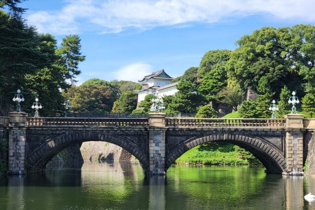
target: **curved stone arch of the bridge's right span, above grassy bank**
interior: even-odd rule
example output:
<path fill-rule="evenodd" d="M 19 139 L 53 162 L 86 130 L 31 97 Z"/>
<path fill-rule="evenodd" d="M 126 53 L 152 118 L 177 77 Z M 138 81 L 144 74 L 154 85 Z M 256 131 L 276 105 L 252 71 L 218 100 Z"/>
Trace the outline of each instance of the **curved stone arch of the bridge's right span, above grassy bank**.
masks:
<path fill-rule="evenodd" d="M 228 142 L 243 147 L 251 152 L 264 165 L 268 173 L 282 174 L 285 172 L 286 165 L 284 154 L 279 148 L 272 145 L 267 140 L 238 134 L 199 136 L 185 140 L 168 152 L 165 170 L 192 147 L 213 141 Z"/>

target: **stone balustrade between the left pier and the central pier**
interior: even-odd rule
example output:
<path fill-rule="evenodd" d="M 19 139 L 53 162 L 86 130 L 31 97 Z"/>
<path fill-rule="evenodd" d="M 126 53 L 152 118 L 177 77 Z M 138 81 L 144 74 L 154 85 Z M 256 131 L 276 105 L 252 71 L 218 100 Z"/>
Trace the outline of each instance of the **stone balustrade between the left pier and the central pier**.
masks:
<path fill-rule="evenodd" d="M 149 118 L 28 117 L 28 126 L 149 126 Z"/>

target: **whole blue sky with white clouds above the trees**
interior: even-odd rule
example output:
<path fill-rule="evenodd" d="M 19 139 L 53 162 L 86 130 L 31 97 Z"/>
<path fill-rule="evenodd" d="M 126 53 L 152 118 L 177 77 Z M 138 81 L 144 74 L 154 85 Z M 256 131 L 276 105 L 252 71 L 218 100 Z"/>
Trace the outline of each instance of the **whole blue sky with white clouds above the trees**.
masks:
<path fill-rule="evenodd" d="M 81 38 L 89 78 L 142 79 L 164 69 L 180 76 L 209 50 L 235 49 L 264 26 L 315 23 L 314 0 L 28 0 L 24 17 L 60 41 Z"/>

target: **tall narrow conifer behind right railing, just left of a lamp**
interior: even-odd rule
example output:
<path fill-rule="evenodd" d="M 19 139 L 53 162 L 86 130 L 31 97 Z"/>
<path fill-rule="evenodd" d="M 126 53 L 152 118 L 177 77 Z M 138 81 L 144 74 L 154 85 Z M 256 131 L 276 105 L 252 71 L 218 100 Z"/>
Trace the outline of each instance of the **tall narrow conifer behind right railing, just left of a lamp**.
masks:
<path fill-rule="evenodd" d="M 263 76 L 260 78 L 257 90 L 260 93 L 257 95 L 256 101 L 259 118 L 270 118 L 271 111 L 269 110 L 269 106 L 275 93 L 271 92 L 267 77 Z"/>

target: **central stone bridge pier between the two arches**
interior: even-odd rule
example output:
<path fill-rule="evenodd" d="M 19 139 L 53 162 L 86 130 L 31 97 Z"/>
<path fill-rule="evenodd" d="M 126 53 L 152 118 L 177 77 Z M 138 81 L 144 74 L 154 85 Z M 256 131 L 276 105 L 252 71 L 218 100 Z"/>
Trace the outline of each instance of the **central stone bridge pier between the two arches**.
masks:
<path fill-rule="evenodd" d="M 166 175 L 165 170 L 165 114 L 150 113 L 148 175 Z"/>

